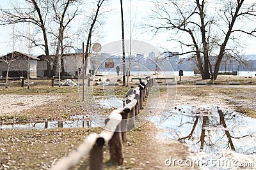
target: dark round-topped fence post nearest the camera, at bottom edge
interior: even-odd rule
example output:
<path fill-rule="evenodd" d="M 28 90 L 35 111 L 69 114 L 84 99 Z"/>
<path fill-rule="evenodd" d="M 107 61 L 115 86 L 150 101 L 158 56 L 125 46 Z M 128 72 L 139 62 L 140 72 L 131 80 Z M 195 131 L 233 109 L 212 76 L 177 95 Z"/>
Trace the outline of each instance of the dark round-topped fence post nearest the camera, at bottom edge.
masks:
<path fill-rule="evenodd" d="M 105 141 L 103 138 L 98 138 L 95 145 L 90 152 L 90 170 L 103 169 L 103 145 Z"/>

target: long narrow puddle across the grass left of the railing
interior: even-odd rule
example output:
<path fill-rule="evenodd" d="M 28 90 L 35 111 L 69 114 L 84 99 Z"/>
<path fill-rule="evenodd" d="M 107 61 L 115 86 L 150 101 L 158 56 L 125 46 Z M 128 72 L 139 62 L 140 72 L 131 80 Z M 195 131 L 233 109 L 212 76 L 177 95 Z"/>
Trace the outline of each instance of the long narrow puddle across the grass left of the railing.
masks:
<path fill-rule="evenodd" d="M 0 125 L 0 129 L 52 129 L 52 128 L 97 127 L 88 120 L 65 120 L 45 122 L 25 122 L 22 124 Z"/>

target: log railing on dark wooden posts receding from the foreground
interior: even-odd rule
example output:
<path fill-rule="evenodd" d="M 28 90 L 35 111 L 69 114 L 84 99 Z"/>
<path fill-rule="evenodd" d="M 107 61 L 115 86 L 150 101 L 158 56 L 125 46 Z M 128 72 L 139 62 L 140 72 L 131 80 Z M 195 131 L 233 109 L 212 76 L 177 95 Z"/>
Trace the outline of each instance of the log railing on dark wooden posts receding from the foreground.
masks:
<path fill-rule="evenodd" d="M 138 85 L 135 93 L 125 101 L 124 108 L 112 111 L 105 121 L 105 127 L 99 134 L 92 133 L 84 139 L 77 150 L 58 160 L 51 170 L 65 170 L 78 164 L 84 156 L 90 154 L 90 170 L 103 169 L 103 146 L 109 145 L 110 159 L 113 164 L 121 165 L 124 161 L 122 141 L 127 141 L 126 132 L 135 126 L 136 115 L 142 108 L 154 80 L 147 78 L 145 85 Z"/>

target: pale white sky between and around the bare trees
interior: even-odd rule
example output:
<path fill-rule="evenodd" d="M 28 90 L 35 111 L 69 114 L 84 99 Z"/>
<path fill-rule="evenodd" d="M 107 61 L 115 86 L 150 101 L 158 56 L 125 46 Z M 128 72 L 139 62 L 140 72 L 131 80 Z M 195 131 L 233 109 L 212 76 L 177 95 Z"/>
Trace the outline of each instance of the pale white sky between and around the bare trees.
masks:
<path fill-rule="evenodd" d="M 17 3 L 17 0 L 1 0 L 1 8 L 10 8 L 8 7 L 8 4 L 10 4 L 10 2 Z M 106 45 L 113 41 L 118 41 L 122 39 L 120 1 L 110 0 L 108 3 L 108 8 L 111 11 L 106 14 L 104 30 L 102 31 L 102 39 L 99 39 L 99 41 L 97 41 L 97 43 L 100 43 L 101 45 Z M 159 50 L 162 50 L 164 48 L 172 52 L 181 51 L 179 45 L 168 41 L 168 32 L 160 33 L 154 36 L 152 33 L 142 29 L 142 23 L 145 22 L 148 13 L 150 13 L 150 11 L 154 8 L 154 5 L 150 1 L 123 0 L 123 3 L 125 19 L 125 39 L 129 39 L 129 16 L 131 12 L 132 18 L 136 18 L 136 20 L 132 20 L 132 25 L 134 25 L 132 39 L 145 41 L 145 43 L 156 46 L 156 48 L 159 48 Z M 130 6 L 132 6 L 131 11 Z M 243 41 L 244 45 L 246 45 L 246 49 L 244 49 L 244 52 L 246 54 L 256 54 L 256 38 L 245 37 Z M 78 45 L 77 48 L 79 47 L 81 48 L 81 46 Z M 28 42 L 15 43 L 14 50 L 28 53 Z M 12 52 L 12 26 L 0 25 L 0 54 L 6 54 L 8 52 Z M 42 50 L 31 49 L 31 53 L 33 53 L 33 55 L 40 55 L 43 52 Z"/>

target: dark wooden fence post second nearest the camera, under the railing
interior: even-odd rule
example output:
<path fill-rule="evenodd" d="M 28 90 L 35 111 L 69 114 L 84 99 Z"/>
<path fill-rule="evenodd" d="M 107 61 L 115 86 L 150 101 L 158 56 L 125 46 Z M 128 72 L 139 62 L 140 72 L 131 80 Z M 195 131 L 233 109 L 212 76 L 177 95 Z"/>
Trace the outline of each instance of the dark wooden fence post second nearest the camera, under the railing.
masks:
<path fill-rule="evenodd" d="M 120 132 L 120 124 L 116 127 L 116 132 L 114 132 L 113 137 L 109 140 L 109 153 L 110 160 L 113 164 L 122 165 L 124 161 L 124 156 L 122 153 L 122 138 Z"/>

